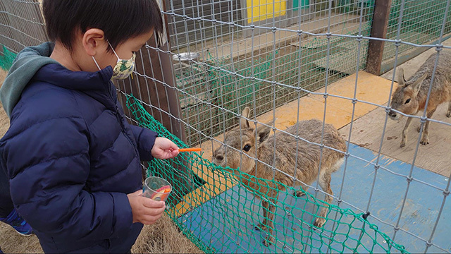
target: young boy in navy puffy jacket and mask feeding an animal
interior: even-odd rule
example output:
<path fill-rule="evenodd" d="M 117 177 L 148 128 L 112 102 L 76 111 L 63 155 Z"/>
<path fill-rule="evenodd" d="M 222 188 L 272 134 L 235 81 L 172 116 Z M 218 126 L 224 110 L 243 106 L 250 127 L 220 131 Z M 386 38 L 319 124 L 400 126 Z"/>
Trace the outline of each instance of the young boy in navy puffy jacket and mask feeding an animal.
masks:
<path fill-rule="evenodd" d="M 44 0 L 43 11 L 54 43 L 20 52 L 0 90 L 1 170 L 46 253 L 130 252 L 165 209 L 142 197 L 140 161 L 178 147 L 129 125 L 110 80 L 131 73 L 161 13 L 154 0 Z"/>

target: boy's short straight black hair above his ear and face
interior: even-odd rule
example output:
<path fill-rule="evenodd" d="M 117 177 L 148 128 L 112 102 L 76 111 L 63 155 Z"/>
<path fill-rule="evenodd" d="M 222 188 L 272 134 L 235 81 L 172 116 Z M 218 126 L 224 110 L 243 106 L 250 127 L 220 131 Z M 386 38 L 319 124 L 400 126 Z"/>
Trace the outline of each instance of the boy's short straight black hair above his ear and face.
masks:
<path fill-rule="evenodd" d="M 72 49 L 78 30 L 103 30 L 113 48 L 152 28 L 163 30 L 155 0 L 44 0 L 42 7 L 49 39 L 67 49 Z"/>

